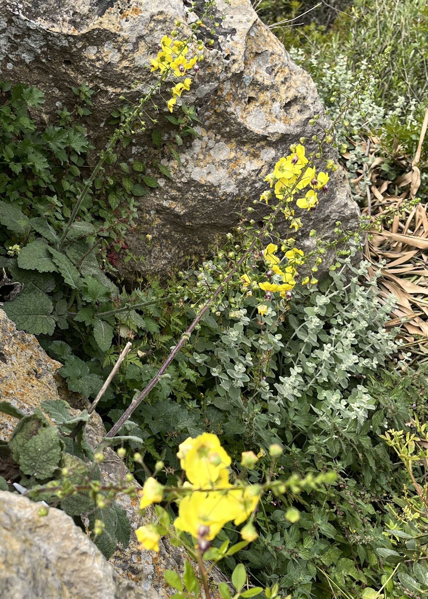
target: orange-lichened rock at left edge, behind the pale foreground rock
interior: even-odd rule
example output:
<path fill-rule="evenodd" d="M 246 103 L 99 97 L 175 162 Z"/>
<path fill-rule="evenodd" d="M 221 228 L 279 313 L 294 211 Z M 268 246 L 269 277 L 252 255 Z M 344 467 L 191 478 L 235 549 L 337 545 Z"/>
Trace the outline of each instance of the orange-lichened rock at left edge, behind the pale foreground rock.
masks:
<path fill-rule="evenodd" d="M 68 401 L 76 414 L 78 410 L 88 408 L 88 401 L 84 400 L 81 395 L 70 392 L 65 388 L 64 379 L 56 373 L 58 368 L 61 368 L 61 364 L 50 359 L 49 356 L 46 355 L 34 335 L 29 335 L 23 331 L 17 331 L 14 323 L 8 319 L 3 310 L 0 310 L 0 401 L 8 401 L 26 414 L 34 412 L 34 409 L 40 407 L 41 402 L 44 400 L 62 399 Z M 7 441 L 10 438 L 16 423 L 17 420 L 15 418 L 0 412 L 0 440 Z M 103 421 L 97 413 L 92 414 L 86 432 L 92 447 L 95 447 L 101 441 L 101 438 L 106 435 Z M 125 474 L 128 474 L 128 469 L 125 467 L 122 460 L 118 458 L 117 453 L 112 449 L 107 447 L 107 449 L 104 450 L 104 456 L 106 459 L 103 464 L 101 464 L 101 476 L 104 483 L 115 482 L 119 478 L 125 476 Z M 0 467 L 0 476 L 5 476 L 7 478 L 7 464 L 5 465 L 5 468 L 6 470 L 2 471 L 2 468 Z M 137 483 L 135 482 L 135 484 Z M 26 503 L 23 505 L 26 506 L 28 500 L 25 500 L 25 502 Z M 2 501 L 0 500 L 0 506 L 1 503 Z M 140 516 L 137 512 L 137 501 L 130 498 L 128 495 L 120 495 L 117 497 L 117 503 L 126 510 L 129 521 L 131 522 L 132 532 L 129 546 L 126 548 L 119 546 L 110 558 L 111 564 L 113 564 L 114 568 L 123 579 L 135 582 L 135 584 L 140 586 L 144 591 L 156 592 L 161 595 L 161 597 L 169 597 L 170 588 L 168 588 L 168 585 L 165 583 L 162 573 L 167 568 L 183 573 L 184 561 L 187 556 L 185 550 L 183 550 L 182 547 L 171 546 L 168 543 L 168 540 L 165 539 L 161 540 L 159 543 L 158 553 L 139 549 L 133 531 L 153 519 L 153 513 L 150 512 L 150 510 L 147 510 L 146 516 Z M 55 510 L 55 513 L 57 513 L 57 510 Z M 0 521 L 1 518 L 2 516 L 0 515 Z M 55 518 L 59 518 L 59 516 L 55 516 Z M 67 519 L 68 516 L 64 514 L 64 518 Z M 64 522 L 68 522 L 68 520 L 64 520 Z M 55 528 L 53 530 L 55 530 Z M 78 537 L 76 537 L 76 539 L 77 538 Z M 4 559 L 2 555 L 2 551 L 4 552 L 4 549 L 2 549 L 2 542 L 3 537 L 0 523 L 0 591 L 3 590 L 1 586 L 2 559 Z M 16 541 L 16 547 L 19 547 L 19 542 L 20 541 Z M 61 543 L 61 537 L 55 539 L 55 543 L 57 542 Z M 92 545 L 92 542 L 89 541 L 89 539 L 88 543 Z M 94 549 L 92 549 L 92 551 L 97 552 L 98 550 L 95 546 L 93 547 Z M 69 558 L 71 556 L 71 550 L 72 548 L 70 547 L 70 552 L 68 552 Z M 12 559 L 10 553 L 7 553 L 6 555 L 9 560 Z M 98 555 L 98 553 L 93 553 L 93 555 Z M 19 557 L 17 557 L 17 559 L 19 559 Z M 73 559 L 71 559 L 71 561 L 73 561 Z M 35 571 L 37 571 L 37 568 L 38 567 L 35 566 Z M 224 580 L 219 571 L 213 571 L 213 579 L 218 581 Z M 41 586 L 41 588 L 43 588 L 43 586 Z M 0 596 L 3 597 L 1 592 Z M 64 597 L 66 596 L 67 595 L 64 595 Z M 140 595 L 133 595 L 132 593 L 126 595 L 126 592 L 124 592 L 123 595 L 117 594 L 117 597 L 119 596 L 131 598 L 140 597 Z M 141 595 L 141 597 L 144 596 L 146 595 Z M 55 599 L 57 599 L 55 594 L 5 594 L 4 597 L 46 597 L 46 599 L 48 599 L 48 597 L 55 597 Z M 58 597 L 63 597 L 63 595 L 58 595 Z M 104 597 L 104 595 L 100 592 L 100 594 L 93 595 L 70 595 L 70 598 L 71 597 L 83 599 L 85 597 Z M 105 597 L 116 597 L 116 595 L 106 594 Z"/>

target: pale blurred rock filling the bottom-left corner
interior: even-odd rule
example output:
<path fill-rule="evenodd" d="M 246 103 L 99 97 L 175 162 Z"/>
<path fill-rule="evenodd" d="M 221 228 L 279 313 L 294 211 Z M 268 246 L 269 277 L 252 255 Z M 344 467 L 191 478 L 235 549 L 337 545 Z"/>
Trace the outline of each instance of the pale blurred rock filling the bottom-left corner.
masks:
<path fill-rule="evenodd" d="M 0 594 L 7 599 L 156 599 L 124 580 L 65 512 L 0 491 Z"/>

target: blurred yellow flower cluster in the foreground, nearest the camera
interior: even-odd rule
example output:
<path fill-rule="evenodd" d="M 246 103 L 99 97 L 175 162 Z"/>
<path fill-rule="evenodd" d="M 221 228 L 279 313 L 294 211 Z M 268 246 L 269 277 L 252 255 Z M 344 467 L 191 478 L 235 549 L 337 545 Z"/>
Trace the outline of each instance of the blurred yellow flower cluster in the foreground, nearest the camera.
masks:
<path fill-rule="evenodd" d="M 177 457 L 187 480 L 183 483 L 183 493 L 175 498 L 178 517 L 174 527 L 177 534 L 190 534 L 204 552 L 227 522 L 239 525 L 251 516 L 260 500 L 260 486 L 231 485 L 230 456 L 218 437 L 208 432 L 183 441 Z M 162 485 L 150 477 L 141 492 L 140 508 L 159 503 L 163 493 Z M 241 532 L 243 539 L 248 541 L 257 537 L 251 523 Z M 161 534 L 156 531 L 156 525 L 140 527 L 135 534 L 144 549 L 158 550 Z"/>

